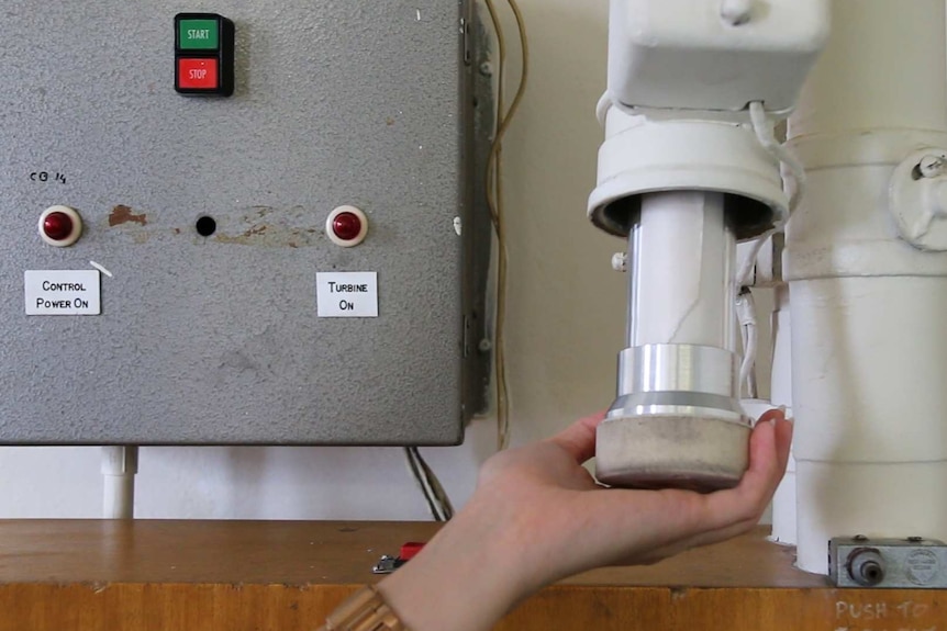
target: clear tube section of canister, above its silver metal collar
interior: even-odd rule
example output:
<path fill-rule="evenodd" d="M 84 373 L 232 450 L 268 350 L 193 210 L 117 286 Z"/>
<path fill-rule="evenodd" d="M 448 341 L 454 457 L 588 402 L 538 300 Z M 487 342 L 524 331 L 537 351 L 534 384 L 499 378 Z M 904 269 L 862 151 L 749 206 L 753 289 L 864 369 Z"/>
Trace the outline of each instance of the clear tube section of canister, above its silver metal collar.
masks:
<path fill-rule="evenodd" d="M 628 347 L 734 351 L 735 267 L 723 193 L 645 195 L 628 237 Z"/>

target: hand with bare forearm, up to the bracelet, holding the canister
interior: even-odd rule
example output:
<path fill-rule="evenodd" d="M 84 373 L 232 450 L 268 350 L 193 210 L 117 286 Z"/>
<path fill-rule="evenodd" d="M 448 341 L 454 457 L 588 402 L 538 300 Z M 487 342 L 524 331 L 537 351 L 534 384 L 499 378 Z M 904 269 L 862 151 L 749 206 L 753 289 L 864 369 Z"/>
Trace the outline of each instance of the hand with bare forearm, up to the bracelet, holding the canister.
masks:
<path fill-rule="evenodd" d="M 735 488 L 603 488 L 582 464 L 602 417 L 482 467 L 464 510 L 424 551 L 379 585 L 414 631 L 482 631 L 521 599 L 558 579 L 615 564 L 654 563 L 753 528 L 786 471 L 792 425 L 762 416 L 750 464 Z"/>

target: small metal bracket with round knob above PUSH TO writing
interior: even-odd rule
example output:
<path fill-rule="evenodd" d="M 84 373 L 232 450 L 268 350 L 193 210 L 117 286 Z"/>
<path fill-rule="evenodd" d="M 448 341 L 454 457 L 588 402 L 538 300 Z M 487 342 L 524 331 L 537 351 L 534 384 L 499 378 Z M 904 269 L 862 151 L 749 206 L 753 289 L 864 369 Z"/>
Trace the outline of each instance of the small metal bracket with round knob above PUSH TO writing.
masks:
<path fill-rule="evenodd" d="M 947 544 L 936 539 L 869 539 L 828 542 L 828 576 L 838 587 L 947 588 Z"/>

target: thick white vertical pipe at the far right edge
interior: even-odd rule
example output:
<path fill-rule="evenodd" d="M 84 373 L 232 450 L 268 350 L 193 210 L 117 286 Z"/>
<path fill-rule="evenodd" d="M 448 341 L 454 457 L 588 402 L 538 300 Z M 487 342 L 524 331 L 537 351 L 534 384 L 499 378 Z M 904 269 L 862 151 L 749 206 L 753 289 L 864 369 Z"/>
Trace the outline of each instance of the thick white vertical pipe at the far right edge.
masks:
<path fill-rule="evenodd" d="M 947 146 L 944 0 L 835 0 L 789 137 L 787 228 L 800 567 L 834 537 L 947 539 L 947 255 L 899 238 L 895 167 Z"/>

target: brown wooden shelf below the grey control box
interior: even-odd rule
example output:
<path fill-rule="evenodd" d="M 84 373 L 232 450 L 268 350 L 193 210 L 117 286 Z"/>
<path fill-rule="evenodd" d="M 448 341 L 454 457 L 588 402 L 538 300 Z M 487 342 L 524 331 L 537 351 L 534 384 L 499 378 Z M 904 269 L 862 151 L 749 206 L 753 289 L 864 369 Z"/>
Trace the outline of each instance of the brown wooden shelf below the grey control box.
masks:
<path fill-rule="evenodd" d="M 312 631 L 437 526 L 0 521 L 0 631 Z M 458 551 L 463 553 L 463 551 Z M 947 593 L 832 587 L 765 531 L 550 587 L 498 629 L 947 631 Z M 449 631 L 449 630 L 445 630 Z"/>

